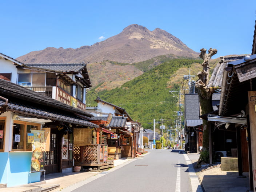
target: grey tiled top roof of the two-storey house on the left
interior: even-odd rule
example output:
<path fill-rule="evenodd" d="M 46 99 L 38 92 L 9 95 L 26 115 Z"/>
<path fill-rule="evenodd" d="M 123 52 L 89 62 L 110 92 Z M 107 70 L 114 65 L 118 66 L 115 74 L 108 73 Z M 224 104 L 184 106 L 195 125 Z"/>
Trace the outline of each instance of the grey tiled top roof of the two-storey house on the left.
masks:
<path fill-rule="evenodd" d="M 41 68 L 56 72 L 79 72 L 86 67 L 85 63 L 46 63 L 46 64 L 25 64 L 25 67 Z"/>

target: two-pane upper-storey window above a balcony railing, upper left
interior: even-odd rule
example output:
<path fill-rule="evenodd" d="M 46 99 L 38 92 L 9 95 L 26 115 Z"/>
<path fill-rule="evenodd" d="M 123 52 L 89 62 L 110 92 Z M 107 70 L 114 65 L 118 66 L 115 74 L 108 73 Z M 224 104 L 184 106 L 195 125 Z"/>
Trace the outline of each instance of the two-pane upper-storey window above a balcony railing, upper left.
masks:
<path fill-rule="evenodd" d="M 45 73 L 20 73 L 18 84 L 24 87 L 45 87 Z"/>

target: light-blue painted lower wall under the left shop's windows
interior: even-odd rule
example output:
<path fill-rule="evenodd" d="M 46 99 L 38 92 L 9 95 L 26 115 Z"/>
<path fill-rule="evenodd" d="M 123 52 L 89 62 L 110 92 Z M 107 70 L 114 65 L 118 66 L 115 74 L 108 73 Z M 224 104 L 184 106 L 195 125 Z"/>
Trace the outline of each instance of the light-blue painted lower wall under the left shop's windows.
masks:
<path fill-rule="evenodd" d="M 40 181 L 40 172 L 29 173 L 32 152 L 0 153 L 0 183 L 7 187 Z"/>

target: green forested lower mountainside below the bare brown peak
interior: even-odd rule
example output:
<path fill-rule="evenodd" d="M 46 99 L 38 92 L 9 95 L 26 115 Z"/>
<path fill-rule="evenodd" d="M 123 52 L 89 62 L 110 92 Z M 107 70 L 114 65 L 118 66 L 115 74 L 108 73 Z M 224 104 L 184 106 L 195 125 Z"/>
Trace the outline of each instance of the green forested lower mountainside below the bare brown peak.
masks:
<path fill-rule="evenodd" d="M 87 107 L 96 106 L 97 96 L 102 100 L 124 108 L 135 121 L 148 127 L 155 118 L 173 122 L 179 110 L 177 98 L 169 90 L 179 90 L 183 75 L 201 70 L 201 59 L 171 59 L 130 80 L 121 87 L 96 92 L 88 90 Z"/>

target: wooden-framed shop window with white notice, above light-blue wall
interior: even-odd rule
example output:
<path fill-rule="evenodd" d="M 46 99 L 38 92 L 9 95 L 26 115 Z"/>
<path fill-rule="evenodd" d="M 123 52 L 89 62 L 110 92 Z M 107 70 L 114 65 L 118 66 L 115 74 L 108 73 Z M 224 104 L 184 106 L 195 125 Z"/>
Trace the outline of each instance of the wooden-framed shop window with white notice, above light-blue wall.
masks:
<path fill-rule="evenodd" d="M 31 143 L 28 143 L 28 133 L 31 130 L 40 130 L 40 124 L 33 124 L 24 121 L 13 121 L 12 150 L 32 151 Z"/>

